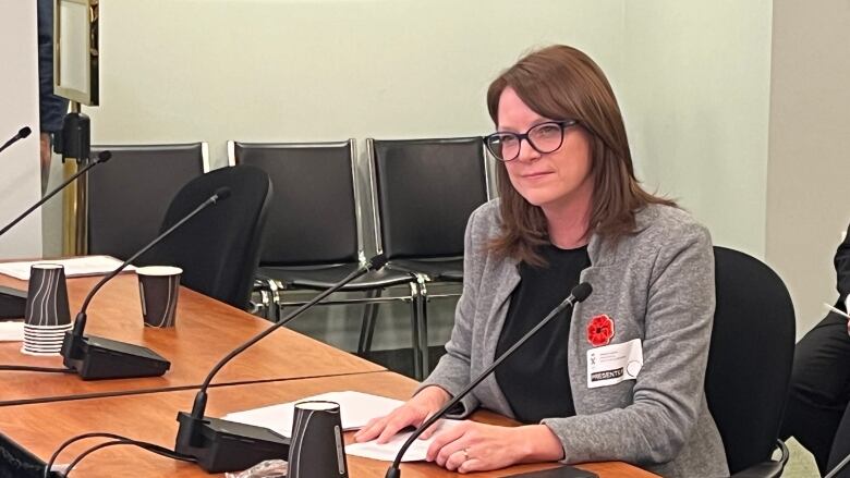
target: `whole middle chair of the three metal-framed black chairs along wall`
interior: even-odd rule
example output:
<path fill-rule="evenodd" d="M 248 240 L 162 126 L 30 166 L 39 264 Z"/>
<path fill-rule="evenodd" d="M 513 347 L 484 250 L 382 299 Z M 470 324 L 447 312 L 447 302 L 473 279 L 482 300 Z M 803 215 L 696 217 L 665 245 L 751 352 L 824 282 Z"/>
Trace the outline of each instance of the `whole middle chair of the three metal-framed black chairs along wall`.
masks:
<path fill-rule="evenodd" d="M 281 293 L 294 290 L 321 291 L 356 270 L 365 260 L 360 234 L 359 201 L 355 199 L 354 140 L 336 143 L 228 143 L 232 162 L 252 164 L 271 176 L 275 198 L 257 277 L 262 292 L 270 295 L 275 316 L 284 306 Z M 382 297 L 381 292 L 398 285 L 411 293 Z M 384 268 L 368 272 L 343 286 L 341 292 L 363 292 L 364 298 L 323 304 L 366 304 L 363 324 L 374 322 L 377 305 L 406 301 L 412 304 L 412 322 L 418 321 L 415 278 Z M 268 317 L 268 316 L 267 316 Z M 415 329 L 415 327 L 414 327 Z M 357 352 L 366 354 L 362 327 Z"/>

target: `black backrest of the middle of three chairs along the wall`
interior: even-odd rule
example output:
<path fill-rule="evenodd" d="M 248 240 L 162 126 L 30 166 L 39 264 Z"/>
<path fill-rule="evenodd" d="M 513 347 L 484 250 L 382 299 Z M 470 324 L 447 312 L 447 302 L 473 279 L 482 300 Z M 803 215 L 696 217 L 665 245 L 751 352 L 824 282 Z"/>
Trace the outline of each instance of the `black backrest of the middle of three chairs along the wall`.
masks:
<path fill-rule="evenodd" d="M 354 140 L 228 144 L 230 156 L 271 176 L 262 266 L 356 262 L 360 237 Z"/>

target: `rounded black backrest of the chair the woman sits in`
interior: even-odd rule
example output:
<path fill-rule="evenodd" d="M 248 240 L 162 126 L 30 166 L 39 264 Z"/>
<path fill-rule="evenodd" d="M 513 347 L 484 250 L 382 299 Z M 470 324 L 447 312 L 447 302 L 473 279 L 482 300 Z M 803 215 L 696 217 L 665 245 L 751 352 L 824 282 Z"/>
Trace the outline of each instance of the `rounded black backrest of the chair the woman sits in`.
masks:
<path fill-rule="evenodd" d="M 705 377 L 708 408 L 734 474 L 770 459 L 794 350 L 794 310 L 782 280 L 758 259 L 714 248 L 717 308 Z"/>

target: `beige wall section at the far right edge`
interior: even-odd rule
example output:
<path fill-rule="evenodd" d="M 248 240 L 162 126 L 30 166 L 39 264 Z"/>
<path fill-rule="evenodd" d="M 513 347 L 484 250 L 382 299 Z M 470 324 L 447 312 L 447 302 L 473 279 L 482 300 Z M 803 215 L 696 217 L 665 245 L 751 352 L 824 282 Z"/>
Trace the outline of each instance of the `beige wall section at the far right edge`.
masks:
<path fill-rule="evenodd" d="M 767 261 L 789 286 L 798 336 L 834 303 L 850 222 L 850 2 L 775 0 Z"/>

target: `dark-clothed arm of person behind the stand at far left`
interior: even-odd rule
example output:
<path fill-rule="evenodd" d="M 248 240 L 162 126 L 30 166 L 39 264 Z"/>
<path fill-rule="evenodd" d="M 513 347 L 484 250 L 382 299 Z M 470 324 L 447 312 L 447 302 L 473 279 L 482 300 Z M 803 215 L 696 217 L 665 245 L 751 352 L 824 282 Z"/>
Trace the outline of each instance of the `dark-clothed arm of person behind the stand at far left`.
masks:
<path fill-rule="evenodd" d="M 53 95 L 53 1 L 38 0 L 38 109 L 41 143 L 41 191 L 50 175 L 51 135 L 62 132 L 68 99 Z"/>

